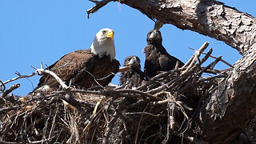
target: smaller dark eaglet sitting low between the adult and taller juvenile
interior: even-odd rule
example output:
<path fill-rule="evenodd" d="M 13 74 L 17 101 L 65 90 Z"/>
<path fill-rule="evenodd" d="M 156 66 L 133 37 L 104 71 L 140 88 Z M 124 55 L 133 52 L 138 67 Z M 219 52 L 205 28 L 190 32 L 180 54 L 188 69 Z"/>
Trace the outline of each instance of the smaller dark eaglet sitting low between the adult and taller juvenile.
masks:
<path fill-rule="evenodd" d="M 123 71 L 119 79 L 120 86 L 125 89 L 133 89 L 141 86 L 145 82 L 145 75 L 141 70 L 141 60 L 133 55 L 125 59 L 123 66 L 129 66 L 130 69 Z"/>

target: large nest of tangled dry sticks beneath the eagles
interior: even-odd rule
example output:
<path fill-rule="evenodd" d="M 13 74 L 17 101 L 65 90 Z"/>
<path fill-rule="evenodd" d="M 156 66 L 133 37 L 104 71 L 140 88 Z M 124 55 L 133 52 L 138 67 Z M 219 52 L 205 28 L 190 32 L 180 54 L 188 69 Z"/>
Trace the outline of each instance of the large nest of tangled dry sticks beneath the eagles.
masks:
<path fill-rule="evenodd" d="M 199 58 L 207 46 L 182 68 L 158 74 L 136 90 L 69 88 L 18 98 L 2 88 L 0 142 L 199 142 L 200 131 L 190 130 L 193 118 L 228 73 L 214 70 L 221 57 L 202 66 L 212 52 Z"/>

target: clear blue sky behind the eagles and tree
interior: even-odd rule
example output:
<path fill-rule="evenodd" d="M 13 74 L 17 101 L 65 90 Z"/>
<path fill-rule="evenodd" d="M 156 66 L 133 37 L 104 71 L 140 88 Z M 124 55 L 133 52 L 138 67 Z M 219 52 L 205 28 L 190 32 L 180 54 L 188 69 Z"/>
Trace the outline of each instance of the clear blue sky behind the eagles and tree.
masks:
<path fill-rule="evenodd" d="M 255 0 L 222 0 L 228 6 L 256 16 Z M 138 55 L 144 66 L 142 49 L 146 46 L 146 34 L 153 29 L 154 22 L 138 10 L 118 2 L 110 2 L 101 10 L 90 14 L 86 10 L 94 6 L 87 0 L 1 0 L 0 1 L 0 80 L 3 82 L 16 77 L 14 72 L 31 74 L 30 66 L 39 67 L 40 62 L 50 66 L 64 54 L 78 49 L 90 48 L 98 30 L 110 27 L 114 30 L 116 59 L 122 64 L 129 55 Z M 210 42 L 214 56 L 223 56 L 234 64 L 241 57 L 238 52 L 224 42 L 197 34 L 190 30 L 179 30 L 165 25 L 161 29 L 163 46 L 175 57 L 186 62 L 204 42 Z M 210 59 L 211 62 L 213 59 Z M 217 68 L 227 66 L 219 63 Z M 26 95 L 37 86 L 39 76 L 23 78 L 15 83 L 21 86 L 13 94 Z M 114 78 L 118 84 L 118 77 Z"/>

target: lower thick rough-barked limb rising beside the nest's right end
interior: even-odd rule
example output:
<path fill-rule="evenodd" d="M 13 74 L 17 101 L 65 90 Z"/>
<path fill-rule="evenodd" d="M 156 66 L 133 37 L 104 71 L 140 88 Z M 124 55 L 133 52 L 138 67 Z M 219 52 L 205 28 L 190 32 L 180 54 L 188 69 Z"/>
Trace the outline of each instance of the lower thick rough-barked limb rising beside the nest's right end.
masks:
<path fill-rule="evenodd" d="M 230 142 L 256 114 L 256 55 L 251 57 L 251 65 L 238 63 L 202 106 L 197 120 L 206 142 Z"/>

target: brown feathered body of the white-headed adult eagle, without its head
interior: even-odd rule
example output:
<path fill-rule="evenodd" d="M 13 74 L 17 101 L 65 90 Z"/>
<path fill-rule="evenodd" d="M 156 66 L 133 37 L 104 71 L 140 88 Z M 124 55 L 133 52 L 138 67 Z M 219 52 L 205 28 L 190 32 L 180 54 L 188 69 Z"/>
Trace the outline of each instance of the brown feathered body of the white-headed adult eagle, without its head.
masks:
<path fill-rule="evenodd" d="M 66 82 L 66 85 L 90 88 L 109 84 L 118 72 L 119 65 L 116 59 L 111 61 L 110 56 L 99 58 L 91 50 L 76 50 L 64 55 L 49 68 Z M 38 87 L 43 85 L 56 89 L 59 83 L 50 74 L 45 74 L 40 78 Z"/>

